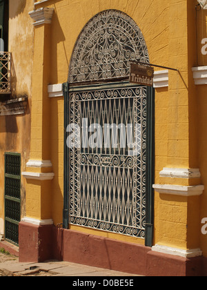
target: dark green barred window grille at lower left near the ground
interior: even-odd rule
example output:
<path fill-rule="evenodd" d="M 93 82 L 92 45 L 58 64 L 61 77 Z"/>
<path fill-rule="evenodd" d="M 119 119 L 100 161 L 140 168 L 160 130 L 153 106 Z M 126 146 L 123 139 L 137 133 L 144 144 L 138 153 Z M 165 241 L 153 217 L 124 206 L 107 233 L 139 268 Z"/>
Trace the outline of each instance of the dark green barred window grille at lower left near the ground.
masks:
<path fill-rule="evenodd" d="M 21 155 L 5 153 L 5 238 L 19 245 L 21 221 Z"/>

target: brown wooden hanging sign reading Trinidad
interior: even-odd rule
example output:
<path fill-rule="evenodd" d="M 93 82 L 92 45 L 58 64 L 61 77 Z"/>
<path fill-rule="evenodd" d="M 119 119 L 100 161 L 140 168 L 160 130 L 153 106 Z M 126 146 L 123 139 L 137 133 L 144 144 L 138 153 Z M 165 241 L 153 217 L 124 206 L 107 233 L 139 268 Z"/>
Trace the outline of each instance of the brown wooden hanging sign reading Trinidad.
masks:
<path fill-rule="evenodd" d="M 153 86 L 154 69 L 151 66 L 130 64 L 130 83 L 142 86 Z"/>

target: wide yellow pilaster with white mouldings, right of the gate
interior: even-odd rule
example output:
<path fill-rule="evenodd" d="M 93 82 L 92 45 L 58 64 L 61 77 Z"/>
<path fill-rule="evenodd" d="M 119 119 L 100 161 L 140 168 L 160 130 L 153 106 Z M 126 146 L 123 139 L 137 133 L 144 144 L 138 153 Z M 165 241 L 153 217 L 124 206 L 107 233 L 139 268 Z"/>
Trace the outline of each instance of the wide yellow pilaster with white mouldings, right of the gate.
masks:
<path fill-rule="evenodd" d="M 188 50 L 189 5 L 193 11 L 190 1 L 169 3 L 169 67 L 179 72 L 169 71 L 167 106 L 162 111 L 156 110 L 155 117 L 155 164 L 158 165 L 153 186 L 156 228 L 153 249 L 181 256 L 201 254 L 199 204 L 204 192 L 197 168 L 196 94 Z"/>

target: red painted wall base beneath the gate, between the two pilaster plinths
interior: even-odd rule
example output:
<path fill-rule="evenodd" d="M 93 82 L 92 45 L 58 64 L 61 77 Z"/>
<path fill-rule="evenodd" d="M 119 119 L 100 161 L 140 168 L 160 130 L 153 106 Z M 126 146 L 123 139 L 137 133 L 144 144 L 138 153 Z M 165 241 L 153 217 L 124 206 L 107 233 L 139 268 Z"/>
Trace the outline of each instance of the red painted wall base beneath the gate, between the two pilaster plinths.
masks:
<path fill-rule="evenodd" d="M 145 275 L 146 255 L 149 252 L 150 248 L 137 244 L 119 242 L 77 231 L 64 231 L 63 258 L 70 262 Z"/>

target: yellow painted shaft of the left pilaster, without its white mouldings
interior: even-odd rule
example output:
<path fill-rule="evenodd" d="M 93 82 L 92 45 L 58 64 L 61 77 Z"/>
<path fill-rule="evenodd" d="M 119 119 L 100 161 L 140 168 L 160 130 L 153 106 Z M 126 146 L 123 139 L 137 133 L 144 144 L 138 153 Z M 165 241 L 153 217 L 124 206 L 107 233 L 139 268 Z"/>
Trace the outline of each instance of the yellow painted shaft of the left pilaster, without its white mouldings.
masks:
<path fill-rule="evenodd" d="M 32 25 L 32 19 L 30 19 Z M 39 26 L 34 31 L 34 63 L 32 69 L 32 122 L 30 160 L 50 160 L 50 25 Z M 43 172 L 47 168 L 32 168 Z M 38 220 L 51 217 L 51 183 L 27 180 L 26 216 Z"/>

